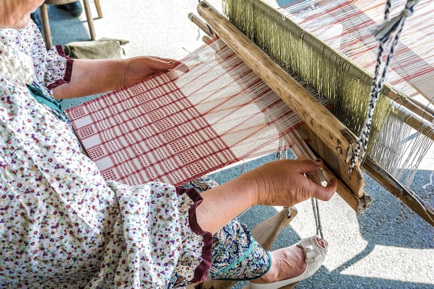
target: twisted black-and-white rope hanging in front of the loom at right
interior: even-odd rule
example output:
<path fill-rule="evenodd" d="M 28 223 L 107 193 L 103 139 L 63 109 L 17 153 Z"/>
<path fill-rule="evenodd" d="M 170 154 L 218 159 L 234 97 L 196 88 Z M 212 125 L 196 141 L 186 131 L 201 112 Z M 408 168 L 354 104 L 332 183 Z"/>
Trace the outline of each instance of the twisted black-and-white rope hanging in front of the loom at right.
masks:
<path fill-rule="evenodd" d="M 419 0 L 408 0 L 406 3 L 406 7 L 402 10 L 402 12 L 399 15 L 392 17 L 392 19 L 389 19 L 391 0 L 388 0 L 386 3 L 385 21 L 379 27 L 379 29 L 376 30 L 376 33 L 374 34 L 376 39 L 379 41 L 379 52 L 377 54 L 377 59 L 376 59 L 376 67 L 374 72 L 374 80 L 372 82 L 369 109 L 367 112 L 365 123 L 361 130 L 361 134 L 359 136 L 359 141 L 356 145 L 356 150 L 354 151 L 353 157 L 351 159 L 351 164 L 349 167 L 349 175 L 352 174 L 354 166 L 356 165 L 356 161 L 358 159 L 363 159 L 365 155 L 365 151 L 367 149 L 367 141 L 369 139 L 370 128 L 372 123 L 372 115 L 374 114 L 375 105 L 379 98 L 380 91 L 383 88 L 386 72 L 388 71 L 390 61 L 392 60 L 395 47 L 397 46 L 399 35 L 401 34 L 403 25 L 406 19 L 411 15 L 413 15 L 413 7 L 418 2 Z M 387 46 L 387 44 L 391 41 L 392 44 L 390 45 L 390 51 L 385 61 L 383 71 L 381 71 L 382 59 L 383 59 L 383 55 L 385 55 L 385 46 Z M 362 148 L 363 148 L 363 152 L 361 153 Z"/>

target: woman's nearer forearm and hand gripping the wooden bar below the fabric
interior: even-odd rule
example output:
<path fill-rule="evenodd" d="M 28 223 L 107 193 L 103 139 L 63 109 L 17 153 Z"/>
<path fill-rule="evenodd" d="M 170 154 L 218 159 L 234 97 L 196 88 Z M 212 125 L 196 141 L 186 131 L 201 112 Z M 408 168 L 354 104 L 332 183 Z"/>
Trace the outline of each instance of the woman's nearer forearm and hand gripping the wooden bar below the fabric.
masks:
<path fill-rule="evenodd" d="M 271 161 L 225 184 L 200 193 L 196 220 L 203 231 L 216 233 L 232 218 L 254 205 L 293 206 L 309 198 L 330 200 L 338 183 L 315 184 L 304 173 L 319 170 L 322 161 L 284 159 Z"/>

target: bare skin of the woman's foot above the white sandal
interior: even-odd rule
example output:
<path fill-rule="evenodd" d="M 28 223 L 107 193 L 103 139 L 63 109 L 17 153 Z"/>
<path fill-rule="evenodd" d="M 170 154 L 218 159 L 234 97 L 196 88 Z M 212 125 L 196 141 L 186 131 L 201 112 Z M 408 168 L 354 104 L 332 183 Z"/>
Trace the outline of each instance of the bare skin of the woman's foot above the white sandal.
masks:
<path fill-rule="evenodd" d="M 318 238 L 318 244 L 326 247 L 326 243 Z M 277 249 L 270 252 L 271 268 L 258 279 L 251 280 L 252 283 L 272 283 L 281 280 L 297 277 L 306 269 L 306 258 L 302 248 L 297 245 Z"/>

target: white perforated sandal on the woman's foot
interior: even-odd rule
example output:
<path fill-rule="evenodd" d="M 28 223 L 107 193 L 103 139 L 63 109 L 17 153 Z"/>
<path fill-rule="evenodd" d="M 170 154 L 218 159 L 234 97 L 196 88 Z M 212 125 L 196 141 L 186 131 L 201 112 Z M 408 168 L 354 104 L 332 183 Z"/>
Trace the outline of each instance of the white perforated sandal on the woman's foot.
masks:
<path fill-rule="evenodd" d="M 327 254 L 327 241 L 322 239 L 326 244 L 326 247 L 324 248 L 320 244 L 318 244 L 317 238 L 317 236 L 304 238 L 295 244 L 298 247 L 302 248 L 304 256 L 306 257 L 306 269 L 304 269 L 304 272 L 302 274 L 298 275 L 297 277 L 273 283 L 259 284 L 250 282 L 250 289 L 278 289 L 311 277 L 313 273 L 317 272 L 318 269 L 320 269 L 321 264 Z"/>

